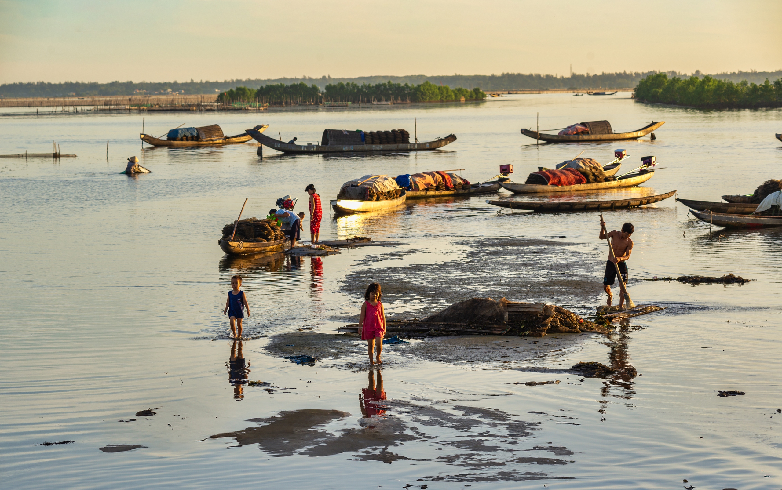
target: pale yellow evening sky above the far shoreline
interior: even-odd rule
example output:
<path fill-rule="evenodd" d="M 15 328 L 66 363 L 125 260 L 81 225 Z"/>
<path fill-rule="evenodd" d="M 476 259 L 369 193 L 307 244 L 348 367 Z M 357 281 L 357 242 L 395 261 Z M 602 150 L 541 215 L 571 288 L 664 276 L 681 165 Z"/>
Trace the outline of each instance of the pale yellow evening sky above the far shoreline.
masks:
<path fill-rule="evenodd" d="M 780 0 L 0 0 L 0 83 L 769 71 L 780 25 Z"/>

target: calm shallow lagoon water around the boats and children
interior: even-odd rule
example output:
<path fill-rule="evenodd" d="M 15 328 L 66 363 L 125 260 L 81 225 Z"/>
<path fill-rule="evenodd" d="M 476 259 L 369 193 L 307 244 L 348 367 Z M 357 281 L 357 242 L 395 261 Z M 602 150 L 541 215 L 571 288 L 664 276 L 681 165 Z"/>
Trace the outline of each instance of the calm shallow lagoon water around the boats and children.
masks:
<path fill-rule="evenodd" d="M 518 133 L 534 127 L 536 113 L 541 129 L 598 119 L 616 131 L 666 123 L 656 141 L 536 146 Z M 607 162 L 614 148 L 626 148 L 630 163 L 655 155 L 667 168 L 641 188 L 582 199 L 676 189 L 683 198 L 718 201 L 780 177 L 782 147 L 773 133 L 782 111 L 671 109 L 626 95 L 518 95 L 350 112 L 156 114 L 144 125 L 163 134 L 181 123 L 220 123 L 236 134 L 268 123 L 267 132 L 285 141 L 314 142 L 325 127 L 412 132 L 414 117 L 421 141 L 450 133 L 458 140 L 437 152 L 283 156 L 266 149 L 260 159 L 249 144 L 142 150 L 136 114 L 0 113 L 0 154 L 46 152 L 56 140 L 63 153 L 78 155 L 59 163 L 0 159 L 4 484 L 472 490 L 679 488 L 687 479 L 698 488 L 780 488 L 779 231 L 710 234 L 672 199 L 604 213 L 610 227 L 636 227 L 633 299 L 668 306 L 665 312 L 633 319 L 608 338 L 386 346 L 387 411 L 370 418 L 359 402 L 371 388 L 364 347 L 332 335 L 355 319 L 369 281 L 382 282 L 387 312 L 400 317 L 474 296 L 588 313 L 604 302 L 597 214 L 497 216 L 481 196 L 326 216 L 321 238 L 359 234 L 397 245 L 321 259 L 228 259 L 217 238 L 245 198 L 244 216 L 265 215 L 286 194 L 305 209 L 310 182 L 328 201 L 344 181 L 366 173 L 465 169 L 480 181 L 512 163 L 523 181 L 537 166 L 584 149 L 583 156 Z M 119 175 L 133 155 L 153 173 Z M 726 273 L 757 281 L 640 281 Z M 229 382 L 232 342 L 221 309 L 233 274 L 245 277 L 253 313 L 245 324 L 253 339 L 243 342 L 248 377 L 267 381 L 264 387 Z M 323 360 L 301 367 L 283 359 L 290 354 Z M 563 370 L 578 361 L 631 363 L 643 376 L 581 382 Z M 550 379 L 561 383 L 512 384 Z M 718 390 L 746 395 L 721 399 Z M 156 415 L 135 416 L 148 408 Z M 138 420 L 117 422 L 129 418 Z M 74 442 L 39 445 L 66 440 Z M 108 445 L 145 447 L 99 449 Z"/>

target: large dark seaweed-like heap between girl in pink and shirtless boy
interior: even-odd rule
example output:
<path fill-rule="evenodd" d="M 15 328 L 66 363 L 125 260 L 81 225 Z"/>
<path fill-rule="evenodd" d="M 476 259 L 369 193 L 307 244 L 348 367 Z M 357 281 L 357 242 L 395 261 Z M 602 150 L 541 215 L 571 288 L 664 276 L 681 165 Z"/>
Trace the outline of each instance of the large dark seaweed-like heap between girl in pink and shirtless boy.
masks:
<path fill-rule="evenodd" d="M 495 301 L 491 298 L 473 298 L 457 302 L 443 311 L 425 317 L 414 323 L 424 325 L 442 325 L 447 332 L 450 329 L 474 328 L 484 330 L 489 327 L 507 327 L 505 335 L 526 335 L 543 337 L 545 334 L 577 334 L 581 332 L 608 333 L 610 330 L 590 320 L 585 320 L 561 306 L 545 305 L 542 311 L 518 311 L 526 303 L 509 302 L 507 299 Z M 457 328 L 458 327 L 458 328 Z M 409 327 L 408 327 L 409 328 Z"/>

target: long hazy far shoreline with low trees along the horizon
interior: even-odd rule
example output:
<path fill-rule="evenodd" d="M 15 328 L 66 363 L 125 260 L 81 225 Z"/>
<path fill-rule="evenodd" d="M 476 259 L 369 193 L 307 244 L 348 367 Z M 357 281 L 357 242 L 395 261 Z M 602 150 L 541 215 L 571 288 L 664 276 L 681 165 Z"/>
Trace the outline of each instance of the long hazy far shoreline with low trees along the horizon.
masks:
<path fill-rule="evenodd" d="M 499 75 L 407 75 L 404 77 L 395 76 L 372 76 L 372 77 L 353 77 L 353 78 L 332 78 L 328 76 L 313 78 L 275 78 L 275 79 L 246 79 L 246 80 L 223 80 L 209 81 L 190 80 L 188 82 L 120 82 L 113 81 L 108 84 L 99 84 L 96 82 L 63 82 L 52 84 L 48 82 L 26 82 L 14 84 L 0 84 L 0 98 L 13 97 L 88 97 L 95 95 L 161 95 L 161 94 L 215 94 L 229 89 L 235 90 L 239 87 L 246 87 L 253 91 L 258 88 L 269 85 L 290 86 L 293 84 L 305 84 L 307 88 L 316 85 L 319 91 L 325 91 L 328 85 L 357 84 L 363 86 L 368 84 L 375 86 L 377 84 L 387 84 L 389 81 L 393 84 L 420 85 L 426 81 L 438 86 L 448 85 L 451 88 L 480 87 L 483 90 L 501 91 L 514 89 L 547 89 L 547 88 L 633 88 L 640 80 L 649 75 L 658 72 L 617 72 L 617 73 L 573 73 L 572 76 L 565 75 L 543 75 L 540 73 L 501 73 Z M 683 77 L 683 73 L 665 72 L 669 77 Z M 696 71 L 694 76 L 705 77 L 705 74 Z M 734 72 L 712 74 L 712 78 L 719 80 L 730 80 L 738 83 L 741 80 L 748 80 L 749 83 L 762 84 L 763 80 L 777 80 L 782 77 L 782 70 L 773 72 Z M 275 89 L 276 90 L 276 89 Z M 271 96 L 271 95 L 270 95 Z M 277 95 L 274 95 L 276 97 Z M 292 95 L 294 96 L 294 95 Z M 306 98 L 304 95 L 295 95 Z M 394 95 L 396 98 L 396 95 Z"/>

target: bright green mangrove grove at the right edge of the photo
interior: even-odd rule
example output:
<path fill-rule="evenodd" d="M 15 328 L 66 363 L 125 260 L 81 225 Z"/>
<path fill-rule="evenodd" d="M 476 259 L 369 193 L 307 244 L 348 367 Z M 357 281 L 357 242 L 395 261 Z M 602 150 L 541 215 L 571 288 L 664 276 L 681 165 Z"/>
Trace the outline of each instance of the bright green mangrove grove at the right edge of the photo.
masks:
<path fill-rule="evenodd" d="M 762 84 L 742 80 L 703 78 L 669 78 L 667 73 L 650 75 L 640 80 L 634 97 L 643 102 L 659 102 L 676 106 L 712 109 L 755 109 L 782 107 L 782 78 Z"/>

